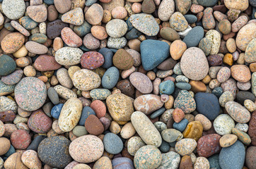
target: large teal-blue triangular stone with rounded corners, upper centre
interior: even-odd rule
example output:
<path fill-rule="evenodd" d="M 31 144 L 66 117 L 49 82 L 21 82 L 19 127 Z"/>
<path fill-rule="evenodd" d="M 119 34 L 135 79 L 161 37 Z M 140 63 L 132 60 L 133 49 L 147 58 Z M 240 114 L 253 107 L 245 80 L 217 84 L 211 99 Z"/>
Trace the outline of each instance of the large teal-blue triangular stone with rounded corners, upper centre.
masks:
<path fill-rule="evenodd" d="M 141 62 L 145 70 L 152 70 L 162 63 L 170 54 L 166 42 L 147 39 L 141 42 Z"/>

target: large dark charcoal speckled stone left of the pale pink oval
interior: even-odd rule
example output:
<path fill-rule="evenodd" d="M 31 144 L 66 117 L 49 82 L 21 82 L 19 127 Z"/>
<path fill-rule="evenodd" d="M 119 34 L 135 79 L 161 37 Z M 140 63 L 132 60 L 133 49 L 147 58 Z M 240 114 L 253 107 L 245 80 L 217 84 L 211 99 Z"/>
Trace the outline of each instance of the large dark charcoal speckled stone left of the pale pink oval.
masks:
<path fill-rule="evenodd" d="M 70 141 L 66 137 L 48 137 L 40 142 L 37 154 L 43 163 L 54 168 L 64 168 L 72 161 L 69 144 Z"/>

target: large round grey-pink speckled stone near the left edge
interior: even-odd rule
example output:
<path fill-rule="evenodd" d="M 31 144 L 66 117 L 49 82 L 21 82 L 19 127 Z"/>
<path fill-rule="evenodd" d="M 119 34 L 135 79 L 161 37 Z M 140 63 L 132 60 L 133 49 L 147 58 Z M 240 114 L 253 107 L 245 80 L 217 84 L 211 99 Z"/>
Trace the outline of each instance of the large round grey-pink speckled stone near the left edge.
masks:
<path fill-rule="evenodd" d="M 25 77 L 15 87 L 18 106 L 26 111 L 35 111 L 45 104 L 47 90 L 45 83 L 36 77 Z"/>

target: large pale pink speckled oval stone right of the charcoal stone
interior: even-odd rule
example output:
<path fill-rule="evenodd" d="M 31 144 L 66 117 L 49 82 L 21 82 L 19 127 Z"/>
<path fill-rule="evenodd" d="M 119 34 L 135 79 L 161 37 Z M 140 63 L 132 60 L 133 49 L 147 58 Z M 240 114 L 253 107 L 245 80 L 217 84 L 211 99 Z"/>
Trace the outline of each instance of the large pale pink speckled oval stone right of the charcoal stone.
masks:
<path fill-rule="evenodd" d="M 91 134 L 78 137 L 69 145 L 70 156 L 79 163 L 97 161 L 103 155 L 103 151 L 104 145 L 101 139 Z M 80 154 L 88 155 L 80 156 Z"/>

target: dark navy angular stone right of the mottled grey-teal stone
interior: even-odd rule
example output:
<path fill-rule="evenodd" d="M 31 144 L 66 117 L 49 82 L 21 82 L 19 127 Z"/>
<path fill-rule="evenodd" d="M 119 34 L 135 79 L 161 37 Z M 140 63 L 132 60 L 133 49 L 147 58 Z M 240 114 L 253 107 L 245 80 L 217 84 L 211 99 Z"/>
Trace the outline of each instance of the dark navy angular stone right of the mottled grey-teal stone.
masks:
<path fill-rule="evenodd" d="M 198 92 L 194 95 L 197 104 L 197 111 L 206 116 L 209 120 L 214 120 L 220 111 L 219 99 L 210 93 Z"/>

